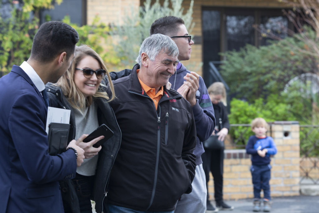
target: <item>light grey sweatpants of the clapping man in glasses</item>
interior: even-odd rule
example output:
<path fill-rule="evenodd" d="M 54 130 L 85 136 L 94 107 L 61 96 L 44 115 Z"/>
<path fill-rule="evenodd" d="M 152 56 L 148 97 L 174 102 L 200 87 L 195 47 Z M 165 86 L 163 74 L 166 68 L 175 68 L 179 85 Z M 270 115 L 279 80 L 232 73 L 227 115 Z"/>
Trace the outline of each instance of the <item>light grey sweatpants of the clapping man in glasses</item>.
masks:
<path fill-rule="evenodd" d="M 192 192 L 182 195 L 181 200 L 177 202 L 174 213 L 204 213 L 206 210 L 206 199 L 206 178 L 203 164 L 199 164 L 195 169 Z"/>

